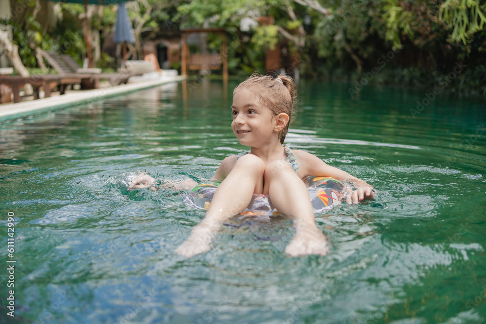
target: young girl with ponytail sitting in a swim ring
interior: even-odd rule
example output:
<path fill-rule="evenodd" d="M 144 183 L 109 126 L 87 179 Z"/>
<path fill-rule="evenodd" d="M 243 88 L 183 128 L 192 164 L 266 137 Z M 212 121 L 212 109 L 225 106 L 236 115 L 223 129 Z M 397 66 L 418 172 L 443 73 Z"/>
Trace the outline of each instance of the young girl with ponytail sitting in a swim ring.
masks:
<path fill-rule="evenodd" d="M 294 221 L 296 233 L 285 248 L 286 253 L 323 256 L 329 252 L 329 245 L 315 224 L 303 180 L 312 175 L 352 182 L 357 189 L 348 195 L 348 204 L 374 198 L 373 187 L 363 180 L 327 165 L 310 153 L 283 145 L 294 115 L 295 96 L 294 82 L 285 75 L 273 78 L 254 74 L 235 88 L 231 128 L 240 144 L 251 150 L 223 160 L 212 179 L 222 182 L 206 217 L 176 253 L 191 257 L 207 252 L 223 222 L 242 212 L 256 193 L 269 195 L 272 205 Z"/>

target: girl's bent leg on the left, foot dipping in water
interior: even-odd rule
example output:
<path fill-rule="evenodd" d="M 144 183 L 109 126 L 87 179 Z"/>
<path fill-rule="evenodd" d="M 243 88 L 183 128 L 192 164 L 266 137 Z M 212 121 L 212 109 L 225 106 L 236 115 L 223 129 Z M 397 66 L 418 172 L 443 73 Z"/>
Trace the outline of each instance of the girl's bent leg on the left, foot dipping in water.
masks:
<path fill-rule="evenodd" d="M 175 252 L 186 257 L 209 251 L 210 243 L 223 222 L 242 212 L 250 204 L 253 192 L 263 189 L 265 164 L 253 154 L 238 159 L 233 170 L 219 185 L 205 218 Z"/>

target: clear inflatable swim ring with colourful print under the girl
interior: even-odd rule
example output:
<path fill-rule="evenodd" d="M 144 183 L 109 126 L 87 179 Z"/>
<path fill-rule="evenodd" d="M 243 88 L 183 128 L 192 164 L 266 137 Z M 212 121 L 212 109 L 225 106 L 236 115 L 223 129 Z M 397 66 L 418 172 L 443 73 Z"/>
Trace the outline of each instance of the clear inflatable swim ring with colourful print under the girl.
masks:
<path fill-rule="evenodd" d="M 208 209 L 211 199 L 221 182 L 204 182 L 192 188 L 184 196 L 184 202 L 196 208 Z M 312 177 L 306 180 L 307 189 L 311 197 L 314 214 L 329 210 L 341 203 L 343 183 L 330 177 Z M 253 197 L 243 212 L 244 216 L 275 216 L 280 212 L 275 209 L 268 195 L 253 194 Z"/>

